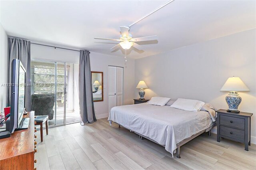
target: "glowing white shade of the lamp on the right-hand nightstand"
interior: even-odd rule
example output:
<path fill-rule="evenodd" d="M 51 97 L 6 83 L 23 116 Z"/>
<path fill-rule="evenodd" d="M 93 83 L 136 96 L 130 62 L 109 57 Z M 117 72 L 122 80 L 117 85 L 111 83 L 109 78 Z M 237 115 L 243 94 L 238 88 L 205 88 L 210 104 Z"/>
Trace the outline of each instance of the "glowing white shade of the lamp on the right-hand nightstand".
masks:
<path fill-rule="evenodd" d="M 239 77 L 229 77 L 220 91 L 249 91 L 248 87 Z"/>

